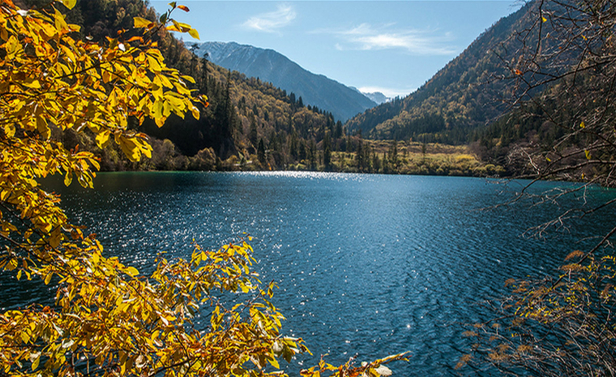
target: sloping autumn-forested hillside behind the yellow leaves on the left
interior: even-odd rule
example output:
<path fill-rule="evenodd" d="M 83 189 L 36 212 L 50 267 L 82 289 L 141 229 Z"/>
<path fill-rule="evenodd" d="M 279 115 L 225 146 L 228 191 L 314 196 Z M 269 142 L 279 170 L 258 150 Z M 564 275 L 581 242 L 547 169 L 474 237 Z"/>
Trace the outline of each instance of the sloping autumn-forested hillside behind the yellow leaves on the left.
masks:
<path fill-rule="evenodd" d="M 26 5 L 40 4 L 29 1 Z M 132 27 L 134 17 L 158 17 L 142 0 L 82 0 L 67 15 L 70 22 L 83 26 L 81 38 L 91 40 L 118 34 L 128 39 L 122 30 Z M 280 169 L 298 165 L 316 169 L 319 164 L 326 168 L 323 150 L 346 142 L 342 123 L 331 113 L 270 83 L 198 57 L 167 31 L 157 31 L 155 39 L 170 67 L 195 78 L 192 90 L 207 95 L 209 106 L 200 109 L 199 120 L 171 115 L 162 128 L 146 121 L 142 131 L 153 137 L 152 159 L 132 163 L 119 150 L 97 150 L 102 169 Z M 77 137 L 70 130 L 56 131 L 55 137 L 69 148 L 80 144 L 97 149 L 87 135 Z"/>

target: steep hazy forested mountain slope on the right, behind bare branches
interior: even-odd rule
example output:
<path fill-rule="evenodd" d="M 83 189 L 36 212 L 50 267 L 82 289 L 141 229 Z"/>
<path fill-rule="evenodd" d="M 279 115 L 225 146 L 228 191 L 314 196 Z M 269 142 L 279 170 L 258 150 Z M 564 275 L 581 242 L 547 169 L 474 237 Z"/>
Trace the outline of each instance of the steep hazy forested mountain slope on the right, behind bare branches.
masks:
<path fill-rule="evenodd" d="M 529 10 L 535 6 L 537 2 L 529 2 L 501 18 L 417 91 L 354 116 L 347 129 L 376 139 L 468 142 L 473 130 L 509 109 L 511 91 L 502 78 L 512 76 L 513 70 L 505 66 L 519 59 L 516 51 L 522 42 L 515 38 L 516 31 L 532 25 Z"/>

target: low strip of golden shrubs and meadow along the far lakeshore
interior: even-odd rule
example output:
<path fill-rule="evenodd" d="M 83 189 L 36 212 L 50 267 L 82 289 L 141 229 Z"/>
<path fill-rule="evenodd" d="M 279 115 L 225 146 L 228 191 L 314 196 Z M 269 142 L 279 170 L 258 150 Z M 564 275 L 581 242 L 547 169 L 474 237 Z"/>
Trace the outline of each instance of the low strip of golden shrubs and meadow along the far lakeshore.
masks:
<path fill-rule="evenodd" d="M 194 156 L 182 155 L 168 139 L 150 140 L 152 158 L 137 163 L 123 158 L 113 148 L 99 150 L 101 171 L 329 171 L 379 174 L 421 174 L 434 176 L 511 176 L 503 166 L 479 160 L 468 145 L 447 145 L 413 141 L 366 140 L 359 136 L 342 138 L 342 150 L 328 151 L 323 142 L 309 144 L 297 158 L 265 149 L 238 153 L 225 160 L 213 148 Z M 282 157 L 281 157 L 282 155 Z M 282 160 L 282 161 L 281 161 Z"/>

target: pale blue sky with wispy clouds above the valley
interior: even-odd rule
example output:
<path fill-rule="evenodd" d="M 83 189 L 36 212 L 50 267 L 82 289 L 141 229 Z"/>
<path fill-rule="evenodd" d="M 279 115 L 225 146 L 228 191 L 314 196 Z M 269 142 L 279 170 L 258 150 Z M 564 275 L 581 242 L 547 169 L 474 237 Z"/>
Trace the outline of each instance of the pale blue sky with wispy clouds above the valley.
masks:
<path fill-rule="evenodd" d="M 161 13 L 168 1 L 151 1 Z M 519 9 L 482 1 L 177 1 L 174 18 L 201 41 L 274 49 L 313 73 L 362 91 L 406 95 L 480 33 Z M 194 41 L 188 34 L 184 41 Z"/>

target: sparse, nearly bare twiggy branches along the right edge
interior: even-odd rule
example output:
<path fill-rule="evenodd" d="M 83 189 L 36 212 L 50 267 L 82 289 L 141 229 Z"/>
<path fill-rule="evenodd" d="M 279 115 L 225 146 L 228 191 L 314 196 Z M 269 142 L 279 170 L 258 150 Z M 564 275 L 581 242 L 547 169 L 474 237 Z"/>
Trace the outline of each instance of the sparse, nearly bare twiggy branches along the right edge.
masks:
<path fill-rule="evenodd" d="M 534 22 L 512 36 L 521 43 L 519 59 L 504 61 L 513 94 L 509 116 L 562 136 L 518 145 L 508 157 L 533 182 L 580 183 L 540 195 L 525 188 L 515 200 L 558 202 L 566 195 L 585 198 L 590 185 L 615 187 L 614 2 L 540 0 L 529 12 Z M 532 230 L 540 235 L 572 217 L 611 213 L 614 203 L 564 208 Z M 487 363 L 506 375 L 616 375 L 616 257 L 610 246 L 616 224 L 610 227 L 594 246 L 565 251 L 556 273 L 508 280 L 509 296 L 485 302 L 496 317 L 467 331 L 474 346 L 459 366 Z"/>

